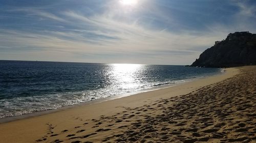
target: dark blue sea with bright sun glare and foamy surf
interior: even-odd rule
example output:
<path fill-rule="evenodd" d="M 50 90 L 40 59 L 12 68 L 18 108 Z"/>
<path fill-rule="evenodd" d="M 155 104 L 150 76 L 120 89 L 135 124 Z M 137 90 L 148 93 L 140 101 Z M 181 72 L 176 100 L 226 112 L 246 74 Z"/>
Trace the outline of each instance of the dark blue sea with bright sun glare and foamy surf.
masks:
<path fill-rule="evenodd" d="M 0 118 L 182 83 L 220 72 L 214 68 L 167 65 L 0 61 Z"/>

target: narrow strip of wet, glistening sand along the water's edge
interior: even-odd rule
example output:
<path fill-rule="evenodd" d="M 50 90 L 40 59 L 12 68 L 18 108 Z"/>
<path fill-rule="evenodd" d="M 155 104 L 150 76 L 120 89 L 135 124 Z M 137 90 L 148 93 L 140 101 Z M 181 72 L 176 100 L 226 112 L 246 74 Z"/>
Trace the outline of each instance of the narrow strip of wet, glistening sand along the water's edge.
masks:
<path fill-rule="evenodd" d="M 19 116 L 10 116 L 10 117 L 5 117 L 5 118 L 0 118 L 0 124 L 13 122 L 13 121 L 18 121 L 18 120 L 23 120 L 23 119 L 28 119 L 28 118 L 33 118 L 33 117 L 42 116 L 42 115 L 47 115 L 49 113 L 54 113 L 54 112 L 74 108 L 74 107 L 77 107 L 77 106 L 98 104 L 98 103 L 101 103 L 101 102 L 105 102 L 105 101 L 109 101 L 109 100 L 115 100 L 115 99 L 123 98 L 123 97 L 126 97 L 126 96 L 133 96 L 133 95 L 137 95 L 137 94 L 140 94 L 140 93 L 151 92 L 151 91 L 161 90 L 161 89 L 166 89 L 166 88 L 172 88 L 172 87 L 176 87 L 176 86 L 179 86 L 179 85 L 182 85 L 182 84 L 186 84 L 188 82 L 193 82 L 193 81 L 208 78 L 208 77 L 211 77 L 211 76 L 222 75 L 222 74 L 225 74 L 225 72 L 226 71 L 223 68 L 220 68 L 220 73 L 218 73 L 218 74 L 188 78 L 188 79 L 184 79 L 185 80 L 184 82 L 179 82 L 179 83 L 174 82 L 173 84 L 171 84 L 171 83 L 163 84 L 163 85 L 159 85 L 159 86 L 156 86 L 156 87 L 151 87 L 151 88 L 148 88 L 148 89 L 142 89 L 142 90 L 132 92 L 132 93 L 115 95 L 115 96 L 110 96 L 110 97 L 106 97 L 106 98 L 99 98 L 99 99 L 95 99 L 95 100 L 91 100 L 91 101 L 87 101 L 87 102 L 81 102 L 81 103 L 78 103 L 78 104 L 62 106 L 62 107 L 59 107 L 59 108 L 56 108 L 56 109 L 40 110 L 40 111 L 34 111 L 34 112 L 30 112 L 30 113 L 24 113 L 24 114 L 19 115 Z"/>

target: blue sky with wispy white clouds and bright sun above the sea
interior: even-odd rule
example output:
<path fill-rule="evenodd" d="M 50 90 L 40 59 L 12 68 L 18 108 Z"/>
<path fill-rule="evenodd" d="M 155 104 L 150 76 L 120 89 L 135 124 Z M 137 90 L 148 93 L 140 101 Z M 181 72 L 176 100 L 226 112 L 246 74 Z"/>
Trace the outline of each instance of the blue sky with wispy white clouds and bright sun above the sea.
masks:
<path fill-rule="evenodd" d="M 0 60 L 190 65 L 256 1 L 0 0 Z"/>

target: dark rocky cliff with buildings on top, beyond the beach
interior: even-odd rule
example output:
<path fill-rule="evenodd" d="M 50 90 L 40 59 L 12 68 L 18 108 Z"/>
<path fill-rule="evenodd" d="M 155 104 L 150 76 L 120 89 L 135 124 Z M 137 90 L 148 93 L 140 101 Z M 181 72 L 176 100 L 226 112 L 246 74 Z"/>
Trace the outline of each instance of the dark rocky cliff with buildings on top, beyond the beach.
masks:
<path fill-rule="evenodd" d="M 226 68 L 256 65 L 256 34 L 230 33 L 225 40 L 215 43 L 201 53 L 191 66 Z"/>

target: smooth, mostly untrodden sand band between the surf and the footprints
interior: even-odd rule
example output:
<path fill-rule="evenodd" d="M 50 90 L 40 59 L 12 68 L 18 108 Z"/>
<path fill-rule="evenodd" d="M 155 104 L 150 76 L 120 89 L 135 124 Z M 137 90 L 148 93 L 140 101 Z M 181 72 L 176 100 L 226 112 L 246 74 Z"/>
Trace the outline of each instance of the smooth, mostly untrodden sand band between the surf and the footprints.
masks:
<path fill-rule="evenodd" d="M 239 74 L 239 68 L 228 68 L 225 70 L 226 73 L 224 74 L 185 82 L 170 88 L 143 92 L 96 104 L 74 106 L 45 115 L 1 123 L 0 133 L 3 135 L 2 139 L 5 142 L 15 142 L 13 136 L 19 138 L 20 142 L 35 142 L 36 139 L 46 134 L 47 129 L 50 128 L 49 126 L 54 125 L 56 132 L 61 132 L 64 128 L 73 128 L 81 125 L 84 121 L 98 119 L 100 116 L 114 115 L 115 113 L 125 111 L 125 108 L 138 107 L 146 102 L 156 101 L 161 98 L 188 94 L 206 85 L 217 83 Z M 33 129 L 30 126 L 33 126 Z M 88 131 L 90 132 L 90 130 Z"/>

